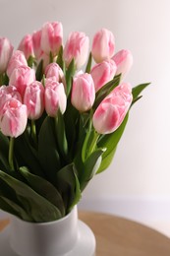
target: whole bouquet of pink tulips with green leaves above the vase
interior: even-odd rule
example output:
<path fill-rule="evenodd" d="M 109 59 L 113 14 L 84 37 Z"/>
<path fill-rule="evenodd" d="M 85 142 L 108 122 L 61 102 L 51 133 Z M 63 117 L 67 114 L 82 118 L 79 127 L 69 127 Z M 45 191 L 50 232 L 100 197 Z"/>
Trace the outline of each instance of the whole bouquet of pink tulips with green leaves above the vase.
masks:
<path fill-rule="evenodd" d="M 108 167 L 131 106 L 148 84 L 124 82 L 133 57 L 112 32 L 63 43 L 60 23 L 0 37 L 0 209 L 28 222 L 67 215 Z M 84 69 L 85 71 L 83 71 Z"/>

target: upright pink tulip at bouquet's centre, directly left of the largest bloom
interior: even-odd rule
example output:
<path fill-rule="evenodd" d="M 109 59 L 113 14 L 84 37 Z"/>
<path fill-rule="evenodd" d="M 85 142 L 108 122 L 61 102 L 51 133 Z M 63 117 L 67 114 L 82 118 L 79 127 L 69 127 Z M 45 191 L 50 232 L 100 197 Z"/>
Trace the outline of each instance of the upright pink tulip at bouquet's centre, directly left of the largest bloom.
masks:
<path fill-rule="evenodd" d="M 95 89 L 90 74 L 81 74 L 74 78 L 71 101 L 81 112 L 91 108 L 95 99 Z"/>

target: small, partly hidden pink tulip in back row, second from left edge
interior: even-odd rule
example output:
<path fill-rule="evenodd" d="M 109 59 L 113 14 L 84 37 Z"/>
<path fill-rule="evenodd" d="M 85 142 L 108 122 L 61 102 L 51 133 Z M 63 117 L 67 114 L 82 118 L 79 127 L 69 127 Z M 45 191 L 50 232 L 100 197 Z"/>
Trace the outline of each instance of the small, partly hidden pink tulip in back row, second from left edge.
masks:
<path fill-rule="evenodd" d="M 27 60 L 28 60 L 29 56 L 34 56 L 32 36 L 30 34 L 27 34 L 24 36 L 24 38 L 22 39 L 22 41 L 19 44 L 18 49 L 24 52 Z"/>

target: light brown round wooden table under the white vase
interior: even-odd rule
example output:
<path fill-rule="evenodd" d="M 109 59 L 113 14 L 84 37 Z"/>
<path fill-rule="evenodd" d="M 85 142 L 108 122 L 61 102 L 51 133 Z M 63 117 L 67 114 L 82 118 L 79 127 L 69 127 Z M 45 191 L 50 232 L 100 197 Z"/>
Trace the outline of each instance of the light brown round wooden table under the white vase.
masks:
<path fill-rule="evenodd" d="M 170 239 L 147 226 L 106 214 L 80 212 L 79 217 L 95 234 L 96 256 L 170 256 Z M 0 221 L 0 230 L 7 224 Z"/>

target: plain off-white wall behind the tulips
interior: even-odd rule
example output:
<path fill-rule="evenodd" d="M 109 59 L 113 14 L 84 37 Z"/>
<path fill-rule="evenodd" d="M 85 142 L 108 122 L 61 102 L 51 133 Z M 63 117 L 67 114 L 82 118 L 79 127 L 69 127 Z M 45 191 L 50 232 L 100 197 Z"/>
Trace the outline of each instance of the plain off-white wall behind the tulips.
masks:
<path fill-rule="evenodd" d="M 116 50 L 129 48 L 133 86 L 151 82 L 131 111 L 115 160 L 85 190 L 82 208 L 130 218 L 170 214 L 170 1 L 0 0 L 0 34 L 17 47 L 22 36 L 46 21 L 92 34 L 105 27 Z M 168 210 L 169 207 L 169 210 Z"/>

